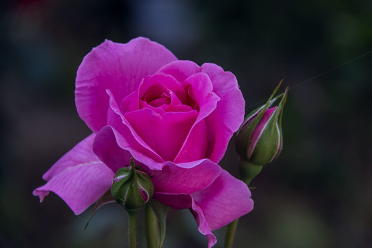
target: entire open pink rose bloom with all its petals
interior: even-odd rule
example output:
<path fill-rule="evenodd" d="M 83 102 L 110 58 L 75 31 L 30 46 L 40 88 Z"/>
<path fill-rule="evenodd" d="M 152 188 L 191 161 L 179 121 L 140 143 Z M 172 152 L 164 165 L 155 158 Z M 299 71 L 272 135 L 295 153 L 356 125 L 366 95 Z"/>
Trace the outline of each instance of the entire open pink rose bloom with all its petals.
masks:
<path fill-rule="evenodd" d="M 133 157 L 152 176 L 153 198 L 189 208 L 209 247 L 211 230 L 253 209 L 247 185 L 217 164 L 245 113 L 231 72 L 179 61 L 145 38 L 105 41 L 83 59 L 75 101 L 93 134 L 43 175 L 41 200 L 54 192 L 81 214 Z"/>

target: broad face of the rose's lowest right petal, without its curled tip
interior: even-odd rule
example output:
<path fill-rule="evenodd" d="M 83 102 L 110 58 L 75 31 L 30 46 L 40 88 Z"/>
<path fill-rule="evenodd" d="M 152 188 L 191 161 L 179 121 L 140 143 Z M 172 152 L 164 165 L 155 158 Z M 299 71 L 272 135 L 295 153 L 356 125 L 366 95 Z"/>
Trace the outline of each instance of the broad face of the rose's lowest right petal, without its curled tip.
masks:
<path fill-rule="evenodd" d="M 248 214 L 254 207 L 251 192 L 241 180 L 223 170 L 206 189 L 192 194 L 212 230 Z"/>

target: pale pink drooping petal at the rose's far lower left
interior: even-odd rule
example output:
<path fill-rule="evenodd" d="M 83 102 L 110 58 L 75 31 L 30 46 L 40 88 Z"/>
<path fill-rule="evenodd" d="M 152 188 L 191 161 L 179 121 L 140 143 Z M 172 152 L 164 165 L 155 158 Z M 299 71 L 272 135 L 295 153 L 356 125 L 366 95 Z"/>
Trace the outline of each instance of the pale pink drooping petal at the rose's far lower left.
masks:
<path fill-rule="evenodd" d="M 43 176 L 48 183 L 32 194 L 40 200 L 54 192 L 74 211 L 81 214 L 112 185 L 114 173 L 93 154 L 94 135 L 76 145 Z"/>

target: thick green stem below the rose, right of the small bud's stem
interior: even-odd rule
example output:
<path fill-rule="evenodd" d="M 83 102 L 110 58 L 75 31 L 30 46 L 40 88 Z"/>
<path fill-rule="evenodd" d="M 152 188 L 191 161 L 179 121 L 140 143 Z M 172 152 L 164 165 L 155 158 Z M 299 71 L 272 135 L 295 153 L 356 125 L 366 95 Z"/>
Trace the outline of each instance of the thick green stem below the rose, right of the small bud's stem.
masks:
<path fill-rule="evenodd" d="M 146 204 L 145 211 L 147 248 L 159 248 L 158 220 L 149 203 Z"/>

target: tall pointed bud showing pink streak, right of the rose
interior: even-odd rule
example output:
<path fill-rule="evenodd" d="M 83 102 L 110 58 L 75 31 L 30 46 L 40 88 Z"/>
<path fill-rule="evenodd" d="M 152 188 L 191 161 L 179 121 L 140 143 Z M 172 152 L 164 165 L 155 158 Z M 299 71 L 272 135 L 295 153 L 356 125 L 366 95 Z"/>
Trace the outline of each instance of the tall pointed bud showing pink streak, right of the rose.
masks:
<path fill-rule="evenodd" d="M 243 161 L 267 165 L 278 158 L 282 151 L 282 110 L 288 87 L 284 94 L 273 99 L 280 83 L 267 103 L 251 112 L 238 131 L 236 150 Z M 270 107 L 276 102 L 279 102 L 277 106 Z"/>

